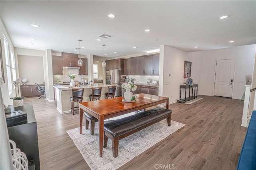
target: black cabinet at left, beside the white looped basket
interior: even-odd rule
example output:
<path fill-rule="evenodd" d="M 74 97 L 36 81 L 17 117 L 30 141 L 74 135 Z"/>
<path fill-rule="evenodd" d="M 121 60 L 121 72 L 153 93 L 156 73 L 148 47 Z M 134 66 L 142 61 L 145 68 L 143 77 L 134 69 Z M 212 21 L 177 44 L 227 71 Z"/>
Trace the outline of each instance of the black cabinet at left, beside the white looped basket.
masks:
<path fill-rule="evenodd" d="M 37 125 L 32 103 L 24 104 L 24 106 L 13 107 L 8 106 L 13 111 L 24 111 L 27 113 L 27 123 L 8 127 L 9 139 L 16 143 L 16 147 L 24 152 L 28 161 L 34 160 L 35 169 L 40 170 Z"/>

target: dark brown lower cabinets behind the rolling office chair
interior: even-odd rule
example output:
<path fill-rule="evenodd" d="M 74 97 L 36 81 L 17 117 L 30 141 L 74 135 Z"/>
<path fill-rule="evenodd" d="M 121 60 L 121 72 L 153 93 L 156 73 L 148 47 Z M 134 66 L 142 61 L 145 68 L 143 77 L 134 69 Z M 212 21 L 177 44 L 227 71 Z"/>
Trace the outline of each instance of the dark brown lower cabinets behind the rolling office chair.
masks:
<path fill-rule="evenodd" d="M 44 86 L 43 84 L 39 85 Z M 36 85 L 22 85 L 20 86 L 20 95 L 23 97 L 36 97 L 44 94 L 43 92 L 38 92 L 37 89 Z"/>

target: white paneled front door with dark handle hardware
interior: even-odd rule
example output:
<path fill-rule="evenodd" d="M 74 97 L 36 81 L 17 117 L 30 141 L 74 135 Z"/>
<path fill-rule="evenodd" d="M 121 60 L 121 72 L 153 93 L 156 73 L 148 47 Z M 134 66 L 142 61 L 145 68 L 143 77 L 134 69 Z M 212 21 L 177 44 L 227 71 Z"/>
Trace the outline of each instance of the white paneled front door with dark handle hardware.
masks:
<path fill-rule="evenodd" d="M 232 97 L 235 59 L 217 60 L 214 96 Z"/>

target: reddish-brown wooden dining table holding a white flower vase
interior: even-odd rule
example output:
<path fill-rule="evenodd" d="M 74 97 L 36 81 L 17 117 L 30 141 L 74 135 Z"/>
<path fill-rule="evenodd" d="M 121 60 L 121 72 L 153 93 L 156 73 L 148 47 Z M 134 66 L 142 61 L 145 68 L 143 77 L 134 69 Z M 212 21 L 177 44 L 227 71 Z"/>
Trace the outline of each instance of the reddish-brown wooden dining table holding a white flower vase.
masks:
<path fill-rule="evenodd" d="M 165 103 L 166 109 L 169 109 L 169 98 L 143 93 L 136 94 L 134 96 L 136 96 L 136 102 L 122 102 L 122 97 L 116 97 L 105 100 L 82 102 L 79 104 L 80 134 L 82 134 L 84 111 L 98 119 L 100 156 L 102 156 L 103 150 L 105 119 L 124 115 L 133 111 L 146 109 L 147 107 L 156 106 L 162 103 Z"/>

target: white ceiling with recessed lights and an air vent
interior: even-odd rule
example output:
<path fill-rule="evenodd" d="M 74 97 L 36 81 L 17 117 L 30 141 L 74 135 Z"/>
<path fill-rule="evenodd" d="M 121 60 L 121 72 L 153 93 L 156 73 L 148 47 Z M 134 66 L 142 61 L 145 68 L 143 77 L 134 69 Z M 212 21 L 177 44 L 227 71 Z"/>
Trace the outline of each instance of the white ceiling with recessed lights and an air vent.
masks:
<path fill-rule="evenodd" d="M 256 43 L 256 1 L 0 3 L 2 21 L 14 47 L 20 48 L 79 53 L 74 48 L 82 39 L 81 46 L 86 48 L 81 54 L 103 56 L 102 44 L 106 44 L 105 53 L 112 58 L 159 49 L 160 45 L 192 52 Z M 108 18 L 108 14 L 116 18 Z M 218 19 L 225 14 L 229 17 Z M 32 23 L 40 27 L 32 27 Z M 102 33 L 113 37 L 96 41 Z M 229 43 L 231 40 L 235 42 Z"/>

